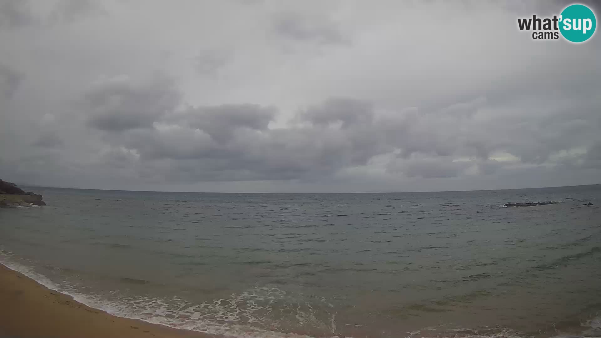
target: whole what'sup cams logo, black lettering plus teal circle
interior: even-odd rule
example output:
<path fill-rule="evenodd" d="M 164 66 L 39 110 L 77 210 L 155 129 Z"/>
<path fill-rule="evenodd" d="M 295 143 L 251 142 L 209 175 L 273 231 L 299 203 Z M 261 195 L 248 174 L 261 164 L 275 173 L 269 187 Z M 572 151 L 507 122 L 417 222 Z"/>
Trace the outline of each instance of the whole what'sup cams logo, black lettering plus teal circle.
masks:
<path fill-rule="evenodd" d="M 570 42 L 584 42 L 597 28 L 593 11 L 585 5 L 573 4 L 553 17 L 525 17 L 517 19 L 520 31 L 532 31 L 534 40 L 558 40 L 560 36 Z"/>

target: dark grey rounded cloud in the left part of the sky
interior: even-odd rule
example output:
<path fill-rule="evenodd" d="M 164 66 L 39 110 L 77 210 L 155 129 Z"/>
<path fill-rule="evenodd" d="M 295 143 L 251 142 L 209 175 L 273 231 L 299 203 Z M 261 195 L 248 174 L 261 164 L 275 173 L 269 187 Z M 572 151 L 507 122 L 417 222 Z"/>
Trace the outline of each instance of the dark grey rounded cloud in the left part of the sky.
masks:
<path fill-rule="evenodd" d="M 150 128 L 160 115 L 174 109 L 179 99 L 168 79 L 155 79 L 148 84 L 118 79 L 89 91 L 81 109 L 90 114 L 88 126 L 121 132 Z"/>

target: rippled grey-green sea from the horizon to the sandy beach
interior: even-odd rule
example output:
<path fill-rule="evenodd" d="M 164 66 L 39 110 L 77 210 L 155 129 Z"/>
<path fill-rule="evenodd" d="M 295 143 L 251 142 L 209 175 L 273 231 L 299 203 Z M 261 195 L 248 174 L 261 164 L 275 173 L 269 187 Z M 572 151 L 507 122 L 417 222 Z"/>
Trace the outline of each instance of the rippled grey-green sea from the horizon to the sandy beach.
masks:
<path fill-rule="evenodd" d="M 0 262 L 113 315 L 232 337 L 601 337 L 601 185 L 26 189 L 48 205 L 0 209 Z M 558 203 L 503 205 L 529 201 Z"/>

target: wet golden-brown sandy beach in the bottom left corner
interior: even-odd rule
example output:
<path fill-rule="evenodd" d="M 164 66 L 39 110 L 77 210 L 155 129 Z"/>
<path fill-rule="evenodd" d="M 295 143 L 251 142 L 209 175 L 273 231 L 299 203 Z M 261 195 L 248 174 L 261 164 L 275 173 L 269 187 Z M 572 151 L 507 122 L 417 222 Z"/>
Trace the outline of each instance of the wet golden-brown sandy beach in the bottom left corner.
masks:
<path fill-rule="evenodd" d="M 0 265 L 0 335 L 11 337 L 213 337 L 119 318 Z"/>

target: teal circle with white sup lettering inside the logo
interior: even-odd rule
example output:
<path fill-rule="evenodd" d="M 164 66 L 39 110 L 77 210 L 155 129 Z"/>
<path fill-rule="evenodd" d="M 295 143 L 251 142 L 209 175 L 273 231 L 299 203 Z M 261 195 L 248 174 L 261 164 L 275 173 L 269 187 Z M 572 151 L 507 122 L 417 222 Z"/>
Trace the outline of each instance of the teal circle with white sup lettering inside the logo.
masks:
<path fill-rule="evenodd" d="M 597 19 L 590 8 L 585 5 L 569 5 L 561 12 L 560 32 L 564 38 L 572 42 L 584 42 L 593 36 L 597 28 Z"/>

